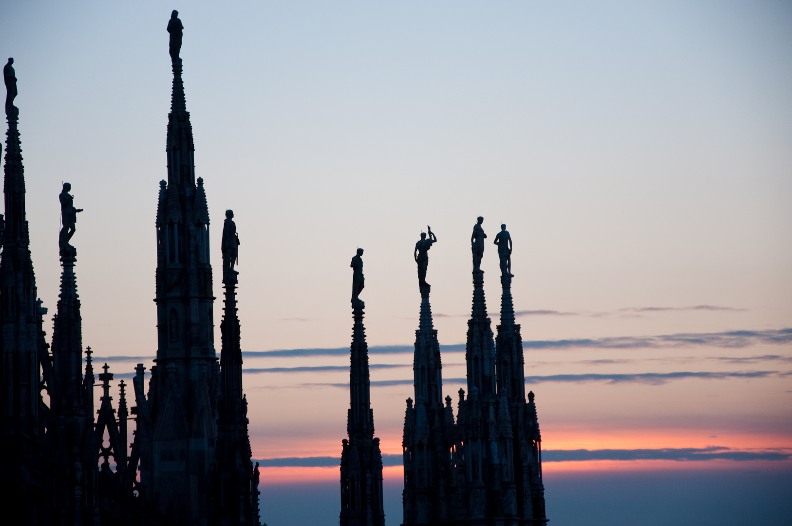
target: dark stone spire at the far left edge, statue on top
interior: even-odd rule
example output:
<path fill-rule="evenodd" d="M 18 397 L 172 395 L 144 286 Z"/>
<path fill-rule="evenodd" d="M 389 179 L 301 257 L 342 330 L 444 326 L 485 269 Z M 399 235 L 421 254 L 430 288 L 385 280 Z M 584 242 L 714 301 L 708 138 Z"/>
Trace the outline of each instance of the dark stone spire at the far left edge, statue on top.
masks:
<path fill-rule="evenodd" d="M 44 415 L 40 394 L 40 363 L 48 365 L 42 315 L 46 311 L 36 301 L 36 276 L 30 258 L 28 222 L 25 219 L 25 174 L 17 129 L 19 109 L 17 78 L 13 59 L 3 67 L 6 83 L 6 158 L 3 191 L 6 196 L 5 223 L 0 256 L 0 494 L 14 509 L 42 509 L 40 492 L 44 485 Z M 45 381 L 51 381 L 49 368 Z"/>

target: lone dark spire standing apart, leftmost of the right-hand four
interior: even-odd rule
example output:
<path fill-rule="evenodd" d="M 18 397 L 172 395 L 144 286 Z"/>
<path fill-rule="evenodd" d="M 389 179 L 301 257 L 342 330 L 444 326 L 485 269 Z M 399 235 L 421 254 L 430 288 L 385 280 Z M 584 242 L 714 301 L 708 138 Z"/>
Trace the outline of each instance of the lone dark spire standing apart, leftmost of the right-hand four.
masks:
<path fill-rule="evenodd" d="M 349 410 L 347 433 L 341 450 L 341 526 L 384 526 L 383 457 L 379 438 L 374 438 L 374 411 L 371 410 L 368 375 L 368 346 L 363 326 L 364 302 L 357 297 L 362 290 L 363 262 L 358 250 L 352 296 L 352 345 L 349 353 Z M 360 266 L 357 267 L 356 263 Z M 360 270 L 360 273 L 358 273 Z M 358 280 L 360 277 L 360 280 Z"/>

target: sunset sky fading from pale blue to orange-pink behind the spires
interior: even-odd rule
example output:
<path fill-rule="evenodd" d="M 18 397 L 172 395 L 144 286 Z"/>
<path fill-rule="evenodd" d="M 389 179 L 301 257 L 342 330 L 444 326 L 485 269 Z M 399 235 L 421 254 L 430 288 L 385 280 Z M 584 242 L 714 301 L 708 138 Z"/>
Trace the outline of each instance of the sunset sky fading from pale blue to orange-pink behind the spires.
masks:
<path fill-rule="evenodd" d="M 227 208 L 242 242 L 265 522 L 337 521 L 359 246 L 386 520 L 400 522 L 413 246 L 431 225 L 427 280 L 456 398 L 482 215 L 488 241 L 506 223 L 514 242 L 548 517 L 784 524 L 790 2 L 2 2 L 38 292 L 53 313 L 68 181 L 85 208 L 72 239 L 83 342 L 116 380 L 156 353 L 173 8 L 214 268 Z M 494 249 L 482 262 L 493 326 Z"/>

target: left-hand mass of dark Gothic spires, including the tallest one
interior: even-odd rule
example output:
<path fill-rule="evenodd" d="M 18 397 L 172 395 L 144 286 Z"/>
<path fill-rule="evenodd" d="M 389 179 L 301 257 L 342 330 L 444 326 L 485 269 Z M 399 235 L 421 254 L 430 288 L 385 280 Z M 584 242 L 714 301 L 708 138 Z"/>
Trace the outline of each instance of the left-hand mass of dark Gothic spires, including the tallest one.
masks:
<path fill-rule="evenodd" d="M 131 407 L 124 380 L 113 407 L 113 373 L 105 364 L 98 375 L 101 406 L 94 413 L 93 351 L 86 348 L 83 368 L 77 250 L 70 245 L 76 212 L 82 210 L 74 208 L 68 183 L 60 195 L 63 273 L 51 345 L 44 338 L 47 309 L 36 296 L 29 250 L 13 59 L 3 70 L 8 131 L 6 215 L 0 215 L 0 504 L 21 512 L 15 524 L 261 524 L 258 464 L 251 463 L 242 392 L 233 262 L 225 272 L 227 260 L 236 257 L 238 238 L 229 214 L 223 229 L 218 363 L 209 214 L 203 180 L 195 178 L 177 14 L 168 25 L 173 66 L 168 180 L 160 184 L 156 224 L 158 351 L 148 392 L 146 368 L 135 368 Z M 226 237 L 234 241 L 230 252 Z M 130 419 L 136 428 L 131 448 Z"/>

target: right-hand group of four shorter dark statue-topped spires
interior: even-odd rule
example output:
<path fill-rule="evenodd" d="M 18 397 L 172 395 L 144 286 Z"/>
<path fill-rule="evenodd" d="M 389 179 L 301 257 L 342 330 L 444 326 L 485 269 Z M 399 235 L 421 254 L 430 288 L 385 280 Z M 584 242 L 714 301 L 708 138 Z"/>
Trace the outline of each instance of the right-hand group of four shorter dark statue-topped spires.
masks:
<path fill-rule="evenodd" d="M 542 437 L 533 392 L 525 399 L 523 341 L 512 302 L 511 237 L 501 225 L 501 323 L 493 337 L 484 295 L 483 218 L 471 238 L 473 304 L 467 322 L 467 389 L 454 418 L 443 399 L 442 363 L 426 282 L 431 228 L 415 248 L 421 311 L 415 331 L 413 398 L 407 398 L 404 435 L 403 524 L 539 526 L 547 524 L 542 482 Z M 352 258 L 352 345 L 348 440 L 341 452 L 341 526 L 385 524 L 382 455 L 374 438 L 363 326 L 363 250 Z M 414 403 L 414 405 L 413 405 Z"/>

